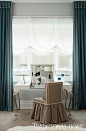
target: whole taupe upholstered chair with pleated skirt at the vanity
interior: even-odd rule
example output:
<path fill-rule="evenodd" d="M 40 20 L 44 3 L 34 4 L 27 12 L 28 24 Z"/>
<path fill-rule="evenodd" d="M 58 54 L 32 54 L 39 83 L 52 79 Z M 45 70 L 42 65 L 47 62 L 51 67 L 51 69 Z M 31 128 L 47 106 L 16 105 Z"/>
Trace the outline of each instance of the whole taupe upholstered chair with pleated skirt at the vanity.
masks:
<path fill-rule="evenodd" d="M 53 124 L 67 120 L 62 103 L 63 83 L 46 83 L 44 98 L 34 98 L 31 118 L 44 124 Z"/>

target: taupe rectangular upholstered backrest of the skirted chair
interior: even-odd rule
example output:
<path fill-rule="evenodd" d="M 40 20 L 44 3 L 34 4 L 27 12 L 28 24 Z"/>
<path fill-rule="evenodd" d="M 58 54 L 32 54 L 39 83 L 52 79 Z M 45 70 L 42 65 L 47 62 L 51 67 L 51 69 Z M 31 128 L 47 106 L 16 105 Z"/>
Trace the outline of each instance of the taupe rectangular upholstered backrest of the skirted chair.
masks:
<path fill-rule="evenodd" d="M 46 104 L 62 102 L 63 82 L 46 83 Z"/>

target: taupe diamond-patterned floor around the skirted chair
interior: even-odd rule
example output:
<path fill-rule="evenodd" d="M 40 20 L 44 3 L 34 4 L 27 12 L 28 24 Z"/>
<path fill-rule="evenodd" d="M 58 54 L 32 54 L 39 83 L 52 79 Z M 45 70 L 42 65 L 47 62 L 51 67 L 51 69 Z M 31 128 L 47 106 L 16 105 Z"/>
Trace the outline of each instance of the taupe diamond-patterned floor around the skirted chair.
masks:
<path fill-rule="evenodd" d="M 19 110 L 18 117 L 15 116 L 16 110 L 13 112 L 0 111 L 0 131 L 6 131 L 14 126 L 30 126 L 39 124 L 39 121 L 34 121 L 30 119 L 31 110 Z M 68 117 L 68 121 L 58 123 L 61 124 L 83 124 L 83 128 L 86 128 L 86 110 L 72 111 L 71 116 Z"/>

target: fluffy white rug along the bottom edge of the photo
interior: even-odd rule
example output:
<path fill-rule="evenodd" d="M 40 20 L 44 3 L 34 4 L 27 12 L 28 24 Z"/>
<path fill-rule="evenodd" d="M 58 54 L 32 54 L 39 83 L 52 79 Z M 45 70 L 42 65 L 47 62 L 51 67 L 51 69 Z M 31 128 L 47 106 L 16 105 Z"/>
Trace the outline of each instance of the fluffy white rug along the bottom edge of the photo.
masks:
<path fill-rule="evenodd" d="M 86 128 L 79 128 L 76 126 L 16 126 L 14 128 L 10 128 L 7 131 L 86 131 Z"/>

